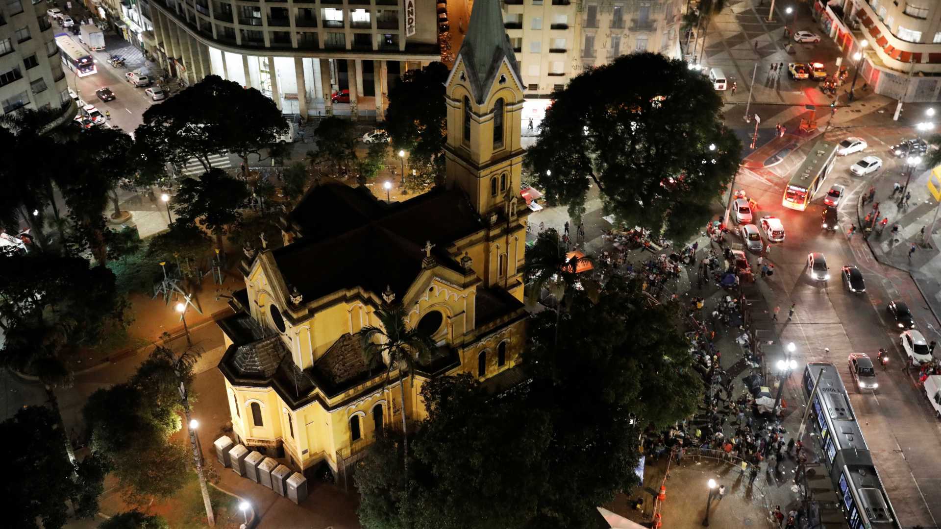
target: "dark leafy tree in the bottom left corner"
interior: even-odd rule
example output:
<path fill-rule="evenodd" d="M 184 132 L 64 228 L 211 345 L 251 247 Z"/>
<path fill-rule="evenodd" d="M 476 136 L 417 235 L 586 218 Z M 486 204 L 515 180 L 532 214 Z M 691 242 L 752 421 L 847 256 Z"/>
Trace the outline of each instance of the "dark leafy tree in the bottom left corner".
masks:
<path fill-rule="evenodd" d="M 72 463 L 56 412 L 30 406 L 0 423 L 0 445 L 10 476 L 0 484 L 4 521 L 9 527 L 58 529 L 75 516 L 91 518 L 104 490 L 106 465 L 99 457 Z"/>

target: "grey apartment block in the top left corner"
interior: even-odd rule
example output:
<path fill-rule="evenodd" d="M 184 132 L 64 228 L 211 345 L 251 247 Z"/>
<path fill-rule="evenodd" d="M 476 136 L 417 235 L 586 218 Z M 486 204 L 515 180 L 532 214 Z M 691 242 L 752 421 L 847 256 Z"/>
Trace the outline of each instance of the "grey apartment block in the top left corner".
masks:
<path fill-rule="evenodd" d="M 0 8 L 0 105 L 3 115 L 61 109 L 54 126 L 71 119 L 75 108 L 45 6 L 4 0 Z"/>

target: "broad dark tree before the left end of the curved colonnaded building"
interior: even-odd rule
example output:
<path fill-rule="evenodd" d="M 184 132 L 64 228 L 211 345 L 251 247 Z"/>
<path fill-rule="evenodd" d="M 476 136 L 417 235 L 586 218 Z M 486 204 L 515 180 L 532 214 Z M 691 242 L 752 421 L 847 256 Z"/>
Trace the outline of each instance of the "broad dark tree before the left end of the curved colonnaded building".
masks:
<path fill-rule="evenodd" d="M 247 166 L 248 154 L 273 143 L 287 127 L 278 106 L 256 88 L 207 75 L 144 112 L 135 153 L 151 168 L 196 158 L 208 171 L 209 156 L 220 152 L 234 152 Z"/>

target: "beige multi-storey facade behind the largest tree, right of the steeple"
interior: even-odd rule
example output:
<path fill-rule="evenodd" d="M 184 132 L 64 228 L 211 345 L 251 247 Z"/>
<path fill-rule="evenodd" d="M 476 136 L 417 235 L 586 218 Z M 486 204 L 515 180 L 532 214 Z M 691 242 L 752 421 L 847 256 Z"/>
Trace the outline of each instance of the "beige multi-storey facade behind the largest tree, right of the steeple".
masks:
<path fill-rule="evenodd" d="M 682 6 L 681 0 L 503 0 L 504 27 L 526 85 L 524 134 L 538 131 L 552 92 L 586 68 L 634 51 L 678 58 Z"/>

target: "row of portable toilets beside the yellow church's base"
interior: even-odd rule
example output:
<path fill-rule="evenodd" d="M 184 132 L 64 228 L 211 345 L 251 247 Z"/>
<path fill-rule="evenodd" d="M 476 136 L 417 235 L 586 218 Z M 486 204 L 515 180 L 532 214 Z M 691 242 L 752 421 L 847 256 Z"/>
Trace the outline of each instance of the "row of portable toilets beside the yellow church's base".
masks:
<path fill-rule="evenodd" d="M 271 457 L 264 457 L 258 452 L 251 452 L 244 444 L 235 444 L 229 436 L 215 440 L 215 457 L 232 472 L 247 477 L 268 489 L 278 492 L 300 504 L 307 499 L 307 478 L 302 473 L 292 473 L 291 469 L 281 465 Z"/>

